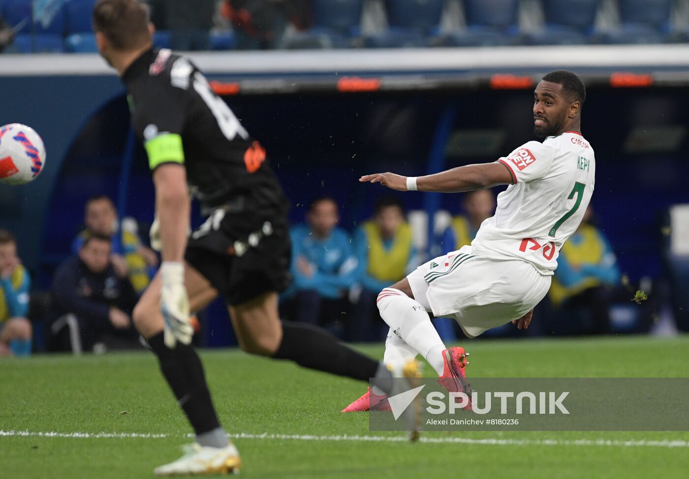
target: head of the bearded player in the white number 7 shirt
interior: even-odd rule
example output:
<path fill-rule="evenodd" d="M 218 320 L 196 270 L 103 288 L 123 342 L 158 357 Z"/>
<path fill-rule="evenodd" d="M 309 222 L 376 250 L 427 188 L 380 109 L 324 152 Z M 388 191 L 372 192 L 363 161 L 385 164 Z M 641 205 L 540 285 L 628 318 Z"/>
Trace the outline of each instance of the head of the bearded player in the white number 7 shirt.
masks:
<path fill-rule="evenodd" d="M 533 134 L 545 138 L 562 132 L 570 104 L 559 83 L 538 83 L 533 92 Z"/>

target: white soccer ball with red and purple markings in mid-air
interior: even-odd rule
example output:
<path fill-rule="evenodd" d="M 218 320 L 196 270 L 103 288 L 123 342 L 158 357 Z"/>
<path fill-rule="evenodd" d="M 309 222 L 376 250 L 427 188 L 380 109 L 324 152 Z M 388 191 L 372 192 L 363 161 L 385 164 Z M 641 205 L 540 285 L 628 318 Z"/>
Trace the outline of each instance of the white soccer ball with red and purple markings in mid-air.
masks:
<path fill-rule="evenodd" d="M 0 181 L 23 185 L 39 176 L 45 165 L 43 140 L 21 123 L 0 127 Z"/>

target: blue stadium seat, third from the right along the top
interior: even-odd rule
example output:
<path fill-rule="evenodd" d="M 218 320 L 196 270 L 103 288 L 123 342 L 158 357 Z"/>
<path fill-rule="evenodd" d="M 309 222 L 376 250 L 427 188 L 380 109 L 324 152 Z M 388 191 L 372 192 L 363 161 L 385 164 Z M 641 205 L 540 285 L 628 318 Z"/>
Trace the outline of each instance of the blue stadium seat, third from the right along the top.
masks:
<path fill-rule="evenodd" d="M 466 29 L 440 37 L 442 46 L 513 45 L 519 32 L 517 0 L 464 0 Z"/>

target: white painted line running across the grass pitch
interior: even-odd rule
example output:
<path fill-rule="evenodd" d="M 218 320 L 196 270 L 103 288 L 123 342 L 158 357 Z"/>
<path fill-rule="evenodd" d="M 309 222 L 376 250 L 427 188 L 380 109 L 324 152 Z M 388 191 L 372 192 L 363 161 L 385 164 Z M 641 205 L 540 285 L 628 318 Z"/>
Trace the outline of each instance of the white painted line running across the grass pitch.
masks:
<path fill-rule="evenodd" d="M 72 439 L 160 439 L 160 438 L 191 438 L 193 434 L 148 434 L 148 433 L 115 433 L 115 432 L 37 432 L 37 431 L 4 431 L 0 429 L 0 437 L 41 437 L 41 438 L 72 438 Z M 406 436 L 305 436 L 300 434 L 228 434 L 232 439 L 263 439 L 263 440 L 306 440 L 306 441 L 353 441 L 353 442 L 407 442 Z M 543 439 L 517 440 L 498 438 L 429 438 L 422 437 L 420 442 L 428 444 L 469 444 L 486 446 L 598 446 L 598 447 L 689 447 L 686 440 L 610 440 L 610 439 Z"/>

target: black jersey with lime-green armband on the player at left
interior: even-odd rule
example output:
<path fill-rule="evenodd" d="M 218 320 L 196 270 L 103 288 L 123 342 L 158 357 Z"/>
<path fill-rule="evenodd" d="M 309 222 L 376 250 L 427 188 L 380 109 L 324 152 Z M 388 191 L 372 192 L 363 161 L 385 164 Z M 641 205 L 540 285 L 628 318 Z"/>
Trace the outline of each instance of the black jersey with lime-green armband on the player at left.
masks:
<path fill-rule="evenodd" d="M 151 170 L 183 164 L 205 212 L 224 205 L 257 214 L 287 210 L 265 150 L 192 61 L 167 49 L 147 50 L 122 79 Z"/>

